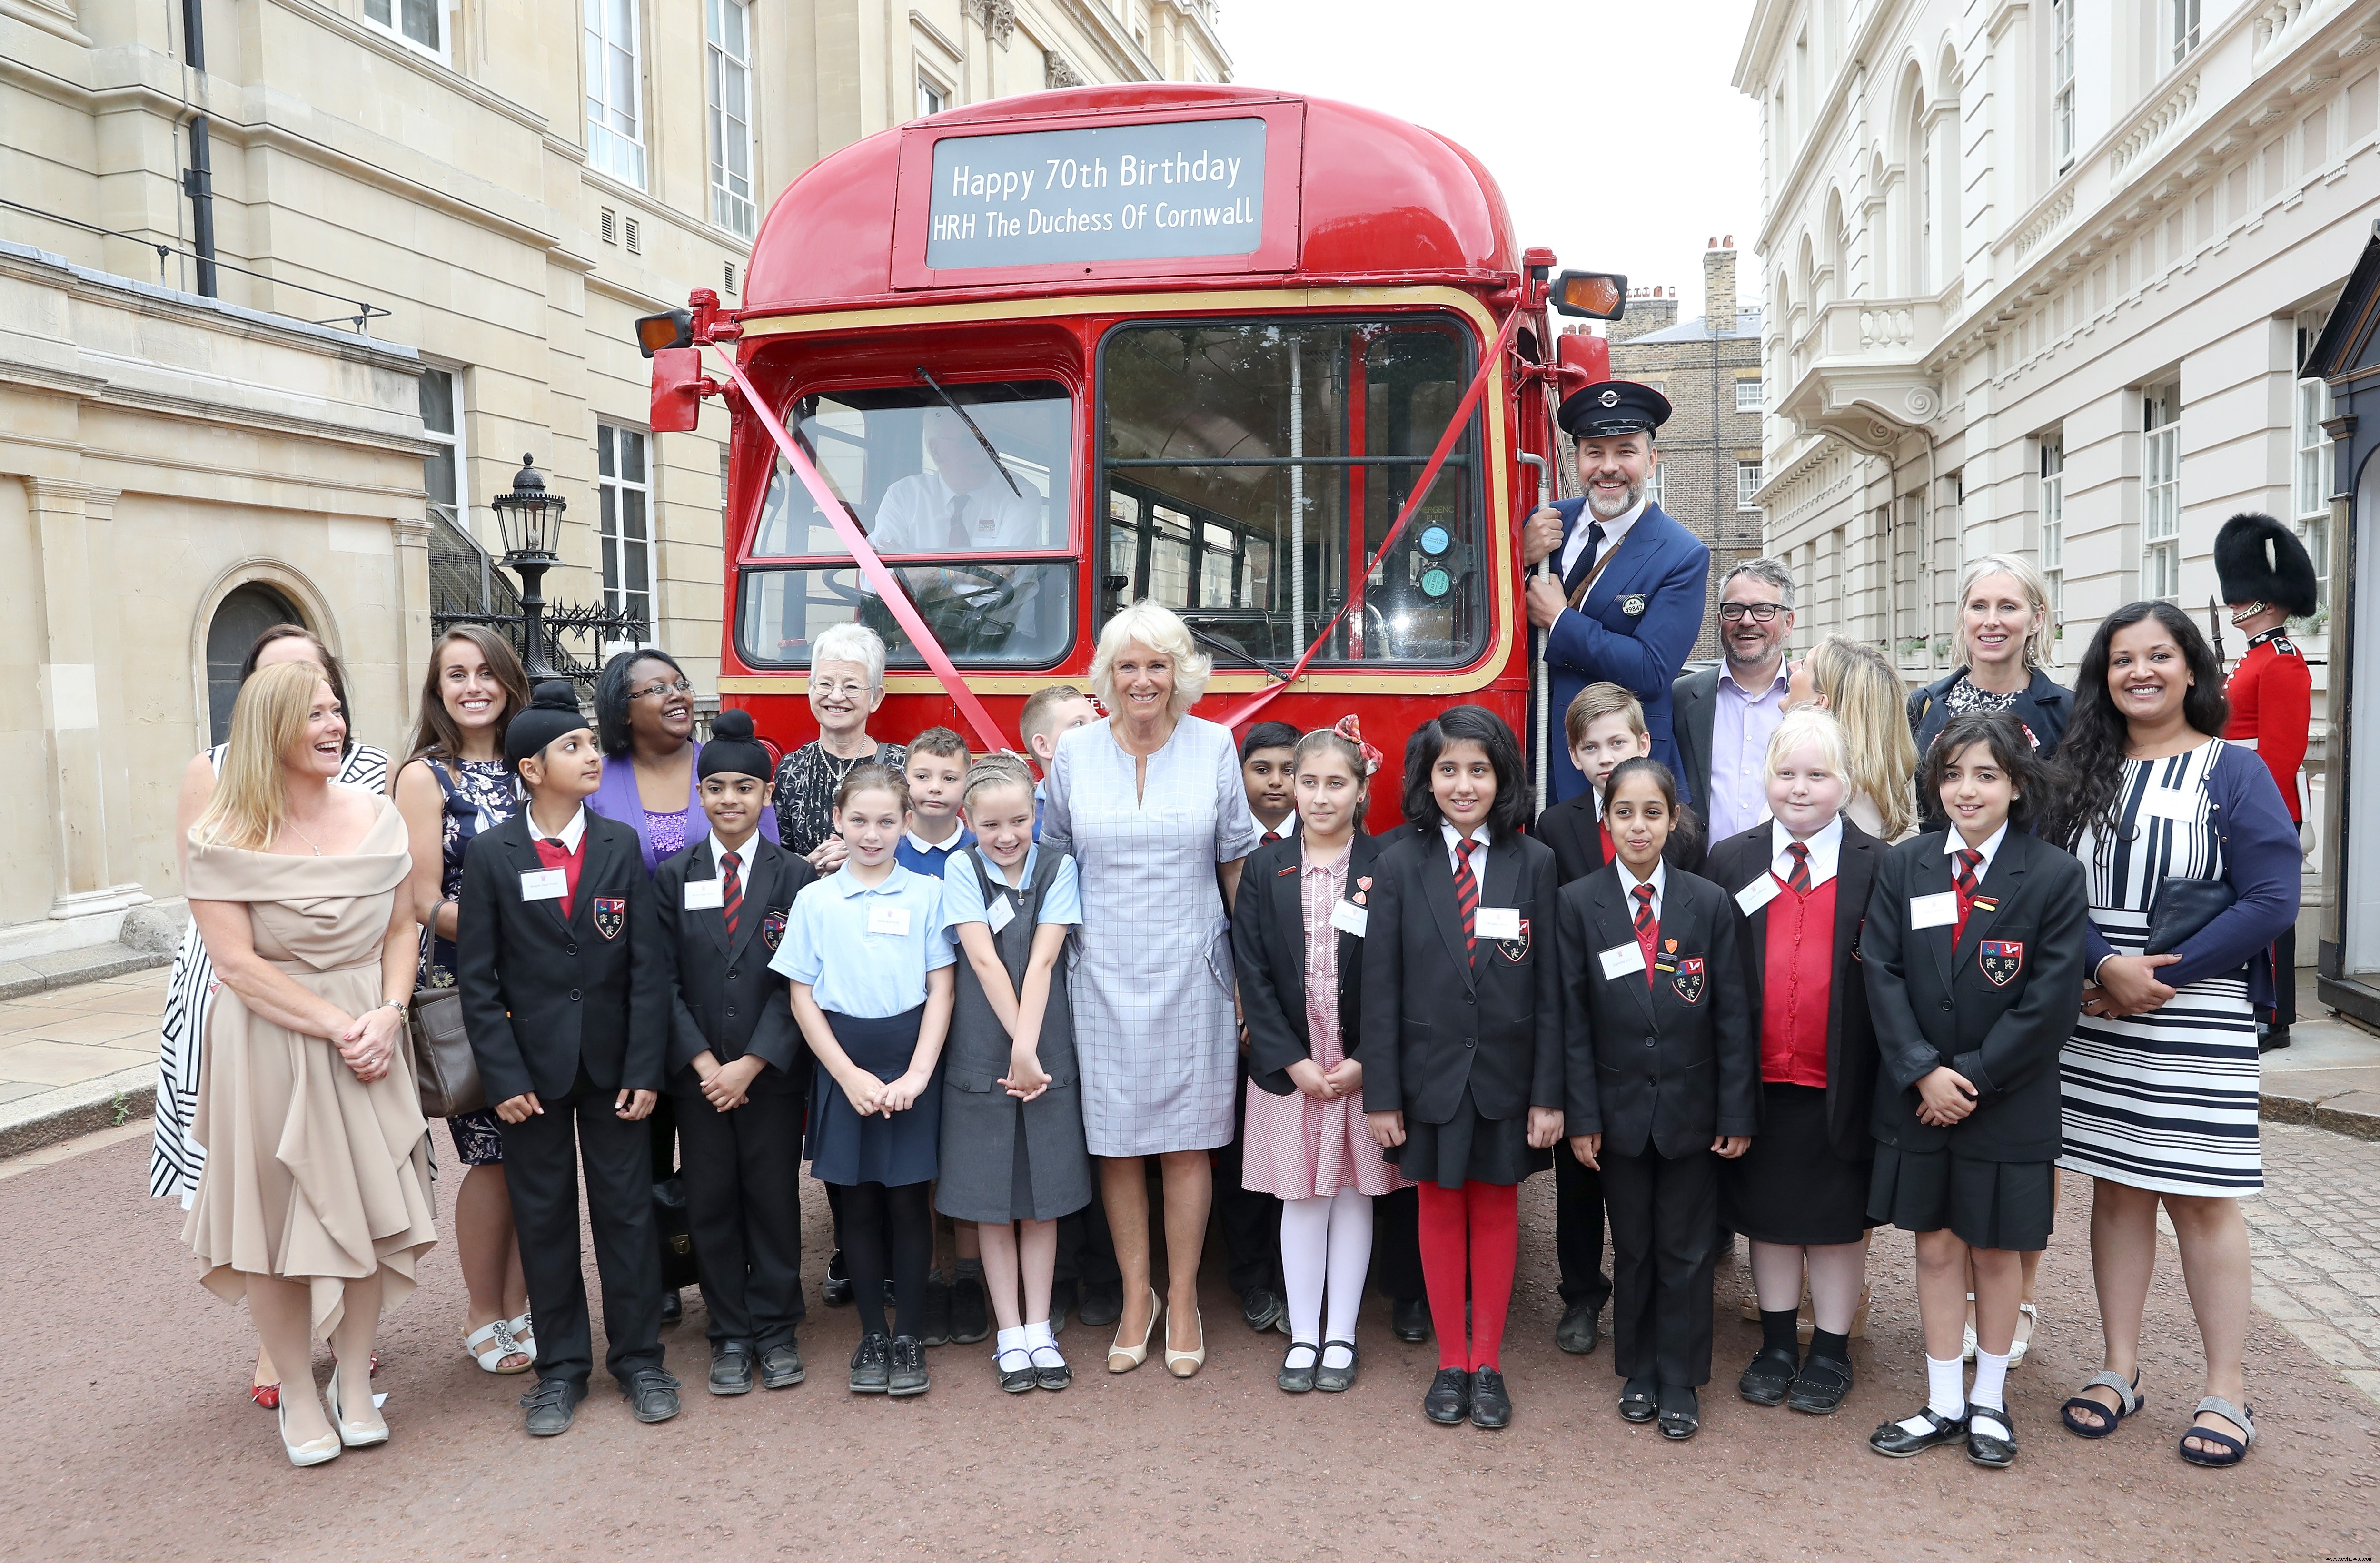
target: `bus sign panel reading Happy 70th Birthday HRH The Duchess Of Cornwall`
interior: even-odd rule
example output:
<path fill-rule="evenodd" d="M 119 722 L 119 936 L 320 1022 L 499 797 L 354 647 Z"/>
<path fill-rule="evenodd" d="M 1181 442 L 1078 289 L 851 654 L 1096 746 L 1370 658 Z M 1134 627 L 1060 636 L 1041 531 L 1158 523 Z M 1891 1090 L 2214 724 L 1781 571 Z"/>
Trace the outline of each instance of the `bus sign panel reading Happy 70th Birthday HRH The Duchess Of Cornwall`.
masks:
<path fill-rule="evenodd" d="M 1261 119 L 945 136 L 933 147 L 935 271 L 1252 255 L 1261 238 Z"/>

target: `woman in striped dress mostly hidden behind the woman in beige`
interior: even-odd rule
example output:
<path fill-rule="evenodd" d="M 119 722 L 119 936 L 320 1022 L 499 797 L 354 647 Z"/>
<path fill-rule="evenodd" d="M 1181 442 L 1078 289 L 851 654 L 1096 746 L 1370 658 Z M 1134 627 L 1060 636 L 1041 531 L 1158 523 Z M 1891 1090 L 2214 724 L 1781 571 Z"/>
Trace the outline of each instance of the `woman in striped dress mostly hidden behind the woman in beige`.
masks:
<path fill-rule="evenodd" d="M 338 657 L 300 623 L 276 623 L 257 635 L 240 659 L 240 683 L 257 668 L 283 661 L 312 661 L 331 680 L 340 709 L 347 709 L 347 683 L 340 678 Z M 224 749 L 214 745 L 205 754 L 190 757 L 181 773 L 181 797 L 174 804 L 174 842 L 188 868 L 190 826 L 214 799 L 214 778 L 224 766 Z M 388 792 L 388 749 L 350 742 L 347 759 L 338 768 L 338 783 Z M 190 1121 L 198 1116 L 198 1066 L 207 1037 L 207 999 L 214 992 L 214 966 L 207 961 L 207 944 L 198 937 L 198 923 L 181 933 L 181 949 L 174 952 L 174 973 L 164 987 L 164 1016 L 157 1028 L 157 1130 L 150 1140 L 150 1197 L 178 1199 L 190 1209 L 198 1194 L 198 1175 L 207 1166 L 207 1147 L 190 1137 Z M 281 1404 L 281 1377 L 271 1358 L 257 1351 L 257 1377 L 250 1399 L 271 1411 Z"/>

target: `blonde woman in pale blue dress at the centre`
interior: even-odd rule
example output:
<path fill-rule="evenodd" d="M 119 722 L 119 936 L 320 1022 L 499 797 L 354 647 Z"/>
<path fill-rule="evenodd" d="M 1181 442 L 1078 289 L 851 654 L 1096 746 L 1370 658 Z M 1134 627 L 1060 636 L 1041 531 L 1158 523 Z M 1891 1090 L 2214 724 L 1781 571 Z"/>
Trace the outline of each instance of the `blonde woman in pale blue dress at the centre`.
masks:
<path fill-rule="evenodd" d="M 1111 716 L 1059 740 L 1045 787 L 1042 849 L 1071 852 L 1083 887 L 1069 997 L 1083 1132 L 1123 1270 L 1109 1373 L 1147 1361 L 1159 1318 L 1145 1156 L 1164 1173 L 1166 1370 L 1190 1377 L 1207 1361 L 1207 1151 L 1230 1144 L 1238 1090 L 1226 906 L 1261 837 L 1230 728 L 1190 716 L 1211 666 L 1154 602 L 1109 619 L 1090 688 Z"/>

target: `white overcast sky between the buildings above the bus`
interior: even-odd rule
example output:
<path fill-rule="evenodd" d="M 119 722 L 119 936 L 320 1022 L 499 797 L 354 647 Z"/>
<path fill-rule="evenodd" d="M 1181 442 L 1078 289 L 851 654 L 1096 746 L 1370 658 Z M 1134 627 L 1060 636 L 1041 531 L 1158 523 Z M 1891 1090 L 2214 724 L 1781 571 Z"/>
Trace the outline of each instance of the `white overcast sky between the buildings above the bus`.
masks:
<path fill-rule="evenodd" d="M 1521 245 L 1668 283 L 1761 216 L 1759 107 L 1728 86 L 1752 0 L 1226 0 L 1233 81 L 1423 124 L 1488 164 Z M 1759 271 L 1737 259 L 1754 305 Z"/>

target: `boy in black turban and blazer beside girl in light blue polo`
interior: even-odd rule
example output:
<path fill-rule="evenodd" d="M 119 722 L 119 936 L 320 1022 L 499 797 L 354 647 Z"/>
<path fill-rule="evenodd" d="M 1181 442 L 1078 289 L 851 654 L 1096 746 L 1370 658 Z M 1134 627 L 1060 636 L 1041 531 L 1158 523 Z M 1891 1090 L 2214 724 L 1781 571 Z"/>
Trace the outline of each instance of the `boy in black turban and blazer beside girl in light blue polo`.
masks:
<path fill-rule="evenodd" d="M 769 959 L 793 897 L 819 875 L 759 833 L 776 766 L 747 711 L 719 714 L 695 768 L 712 833 L 659 864 L 652 892 L 669 963 L 669 1094 L 709 1306 L 712 1394 L 745 1394 L 754 1373 L 769 1389 L 802 1382 L 802 1206 L 793 1189 L 809 1068 L 788 983 Z"/>

